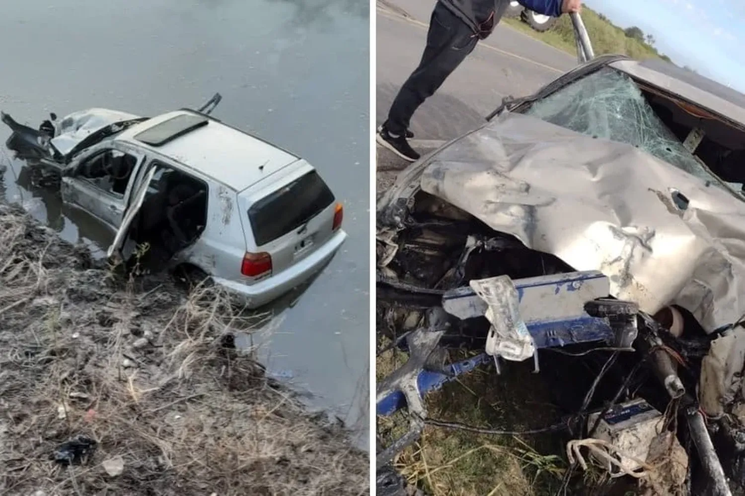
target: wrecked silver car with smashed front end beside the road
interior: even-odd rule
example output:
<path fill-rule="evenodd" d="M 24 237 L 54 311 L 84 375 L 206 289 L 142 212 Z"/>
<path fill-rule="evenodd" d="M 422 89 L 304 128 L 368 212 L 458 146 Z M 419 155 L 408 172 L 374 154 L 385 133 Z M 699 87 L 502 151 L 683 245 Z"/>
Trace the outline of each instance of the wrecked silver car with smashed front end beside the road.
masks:
<path fill-rule="evenodd" d="M 586 387 L 562 410 L 602 422 L 571 437 L 601 424 L 624 445 L 618 422 L 662 422 L 679 405 L 678 438 L 698 460 L 689 490 L 742 486 L 744 184 L 745 95 L 615 55 L 504 101 L 403 170 L 377 206 L 378 338 L 408 362 L 378 381 L 377 410 L 408 408 L 410 431 L 378 446 L 378 468 L 419 437 L 425 393 L 530 360 L 556 390 Z M 574 356 L 542 352 L 565 347 Z M 469 358 L 448 358 L 463 348 Z M 656 379 L 595 393 L 609 368 Z M 637 434 L 626 447 L 643 461 Z"/>

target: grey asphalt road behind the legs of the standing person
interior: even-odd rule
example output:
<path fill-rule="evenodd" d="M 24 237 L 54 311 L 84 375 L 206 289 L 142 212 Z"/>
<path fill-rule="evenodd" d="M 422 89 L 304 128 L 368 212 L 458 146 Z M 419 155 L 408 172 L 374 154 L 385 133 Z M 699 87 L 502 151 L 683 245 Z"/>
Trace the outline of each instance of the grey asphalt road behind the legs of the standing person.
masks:
<path fill-rule="evenodd" d="M 432 7 L 431 0 L 378 0 L 378 125 L 422 56 Z M 498 25 L 414 114 L 412 146 L 428 152 L 484 123 L 484 116 L 499 106 L 503 97 L 533 93 L 575 65 L 577 59 L 571 55 Z M 378 170 L 400 169 L 403 165 L 378 146 Z"/>

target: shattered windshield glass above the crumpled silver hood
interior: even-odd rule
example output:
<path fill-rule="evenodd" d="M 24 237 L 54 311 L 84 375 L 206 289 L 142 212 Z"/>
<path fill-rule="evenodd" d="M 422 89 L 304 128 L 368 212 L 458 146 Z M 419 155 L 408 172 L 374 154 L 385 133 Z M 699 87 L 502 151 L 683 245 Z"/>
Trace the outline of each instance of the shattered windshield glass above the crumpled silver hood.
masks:
<path fill-rule="evenodd" d="M 583 135 L 636 146 L 726 189 L 665 126 L 636 83 L 612 68 L 559 89 L 524 113 Z"/>

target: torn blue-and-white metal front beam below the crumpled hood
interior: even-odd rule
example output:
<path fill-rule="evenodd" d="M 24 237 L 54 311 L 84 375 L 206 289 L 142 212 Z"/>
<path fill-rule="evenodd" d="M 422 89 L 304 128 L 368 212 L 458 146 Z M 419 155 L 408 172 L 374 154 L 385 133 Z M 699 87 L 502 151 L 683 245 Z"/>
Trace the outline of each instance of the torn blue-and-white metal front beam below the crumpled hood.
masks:
<path fill-rule="evenodd" d="M 379 277 L 378 282 L 381 282 Z M 407 363 L 379 383 L 378 415 L 390 415 L 405 405 L 413 413 L 422 415 L 424 410 L 419 410 L 419 398 L 431 390 L 439 389 L 455 376 L 475 369 L 488 361 L 488 356 L 524 360 L 533 356 L 535 348 L 562 347 L 593 341 L 630 347 L 636 338 L 638 306 L 618 300 L 603 300 L 602 297 L 608 294 L 609 283 L 607 277 L 597 271 L 527 277 L 514 281 L 509 277 L 495 277 L 472 283 L 491 287 L 501 284 L 501 289 L 507 289 L 501 294 L 507 294 L 508 298 L 502 302 L 502 306 L 489 306 L 470 287 L 445 292 L 442 296 L 442 308 L 434 306 L 428 310 L 427 326 L 414 329 L 407 335 L 410 352 Z M 410 288 L 405 283 L 387 281 L 387 284 L 399 289 Z M 431 289 L 419 291 L 431 297 L 440 294 Z M 516 341 L 519 341 L 518 344 L 528 343 L 527 351 L 522 355 L 510 355 L 509 352 L 503 353 L 501 349 L 490 349 L 487 340 L 486 354 L 435 370 L 437 367 L 434 367 L 430 358 L 446 329 L 451 327 L 448 314 L 465 320 L 484 317 L 490 310 L 494 312 L 490 320 L 492 326 L 507 323 L 507 331 L 511 331 L 513 326 L 509 326 L 509 323 L 522 325 L 524 334 L 519 335 Z M 505 318 L 506 315 L 509 318 Z M 414 396 L 416 399 L 411 400 Z M 423 408 L 423 404 L 421 406 Z"/>

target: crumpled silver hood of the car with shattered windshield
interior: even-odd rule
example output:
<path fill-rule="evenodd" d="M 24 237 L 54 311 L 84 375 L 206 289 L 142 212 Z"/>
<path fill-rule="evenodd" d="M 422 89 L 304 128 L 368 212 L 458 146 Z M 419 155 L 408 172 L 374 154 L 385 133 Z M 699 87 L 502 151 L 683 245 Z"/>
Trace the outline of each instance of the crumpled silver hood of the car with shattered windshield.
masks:
<path fill-rule="evenodd" d="M 745 204 L 633 146 L 507 113 L 424 167 L 422 190 L 576 270 L 602 271 L 614 297 L 644 312 L 676 303 L 707 332 L 745 314 Z"/>

